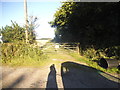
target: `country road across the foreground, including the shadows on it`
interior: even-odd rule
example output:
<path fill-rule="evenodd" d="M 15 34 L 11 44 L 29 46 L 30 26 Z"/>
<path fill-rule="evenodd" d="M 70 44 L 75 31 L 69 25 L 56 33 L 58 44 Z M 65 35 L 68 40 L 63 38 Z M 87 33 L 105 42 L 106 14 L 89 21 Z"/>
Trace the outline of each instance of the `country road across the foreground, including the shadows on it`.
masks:
<path fill-rule="evenodd" d="M 118 80 L 71 61 L 44 68 L 2 67 L 2 88 L 118 88 Z"/>

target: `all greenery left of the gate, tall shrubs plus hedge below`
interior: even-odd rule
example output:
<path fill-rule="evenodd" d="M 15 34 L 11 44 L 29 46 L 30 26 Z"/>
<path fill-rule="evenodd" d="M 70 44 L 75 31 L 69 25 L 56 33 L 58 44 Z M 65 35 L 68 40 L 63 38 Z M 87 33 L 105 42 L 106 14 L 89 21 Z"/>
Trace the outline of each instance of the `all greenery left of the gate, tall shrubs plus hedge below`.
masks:
<path fill-rule="evenodd" d="M 0 29 L 2 33 L 2 62 L 3 64 L 10 64 L 12 66 L 19 66 L 24 64 L 26 66 L 41 65 L 46 62 L 47 56 L 40 50 L 39 47 L 34 47 L 36 38 L 35 28 L 38 27 L 36 21 L 37 17 L 31 16 L 28 26 L 29 43 L 25 43 L 25 27 L 19 26 L 16 22 L 12 22 L 11 26 L 5 26 Z"/>

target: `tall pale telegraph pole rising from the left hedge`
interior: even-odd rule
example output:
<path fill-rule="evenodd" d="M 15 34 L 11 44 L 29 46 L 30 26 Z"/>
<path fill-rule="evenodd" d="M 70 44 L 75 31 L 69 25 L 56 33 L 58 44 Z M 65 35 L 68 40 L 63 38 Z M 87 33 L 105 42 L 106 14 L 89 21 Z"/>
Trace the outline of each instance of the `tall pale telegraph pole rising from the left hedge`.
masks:
<path fill-rule="evenodd" d="M 27 14 L 27 0 L 24 0 L 24 15 L 25 15 L 25 23 L 26 23 L 26 30 L 25 30 L 25 35 L 26 35 L 26 43 L 28 43 L 28 14 Z"/>

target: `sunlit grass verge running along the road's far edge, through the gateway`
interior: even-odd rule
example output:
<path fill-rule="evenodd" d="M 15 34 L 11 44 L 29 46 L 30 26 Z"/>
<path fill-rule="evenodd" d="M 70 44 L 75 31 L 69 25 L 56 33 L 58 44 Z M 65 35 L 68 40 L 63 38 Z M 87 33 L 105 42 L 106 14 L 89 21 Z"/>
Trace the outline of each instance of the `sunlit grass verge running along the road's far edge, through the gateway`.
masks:
<path fill-rule="evenodd" d="M 40 52 L 38 50 L 41 50 Z M 37 53 L 36 53 L 37 52 Z M 41 54 L 39 54 L 39 53 Z M 46 45 L 43 49 L 30 49 L 29 55 L 24 57 L 14 57 L 3 65 L 8 65 L 12 67 L 42 67 L 47 66 L 48 64 L 60 65 L 66 61 L 77 61 L 83 62 L 89 67 L 96 68 L 97 70 L 108 72 L 108 73 L 120 73 L 117 68 L 104 69 L 100 67 L 96 62 L 80 56 L 77 51 L 71 51 L 66 49 L 58 49 L 57 51 L 54 48 L 54 45 Z"/>

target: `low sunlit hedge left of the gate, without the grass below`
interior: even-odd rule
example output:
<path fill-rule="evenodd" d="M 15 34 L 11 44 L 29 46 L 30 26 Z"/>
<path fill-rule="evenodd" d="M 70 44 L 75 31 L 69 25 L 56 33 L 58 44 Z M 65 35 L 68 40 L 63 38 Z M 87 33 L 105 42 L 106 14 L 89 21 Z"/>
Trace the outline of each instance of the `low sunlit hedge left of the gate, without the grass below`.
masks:
<path fill-rule="evenodd" d="M 3 43 L 2 44 L 2 62 L 7 63 L 15 60 L 25 60 L 26 58 L 33 60 L 43 60 L 44 54 L 38 47 L 33 47 L 25 43 Z"/>

